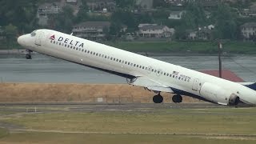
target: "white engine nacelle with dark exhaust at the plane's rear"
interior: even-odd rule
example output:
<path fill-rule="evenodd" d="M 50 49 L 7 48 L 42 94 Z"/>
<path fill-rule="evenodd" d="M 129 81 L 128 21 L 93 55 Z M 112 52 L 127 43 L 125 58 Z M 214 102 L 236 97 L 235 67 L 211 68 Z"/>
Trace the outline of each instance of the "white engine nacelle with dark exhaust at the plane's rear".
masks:
<path fill-rule="evenodd" d="M 221 105 L 237 105 L 239 102 L 238 95 L 209 82 L 205 82 L 202 85 L 200 94 L 210 102 L 215 102 Z"/>

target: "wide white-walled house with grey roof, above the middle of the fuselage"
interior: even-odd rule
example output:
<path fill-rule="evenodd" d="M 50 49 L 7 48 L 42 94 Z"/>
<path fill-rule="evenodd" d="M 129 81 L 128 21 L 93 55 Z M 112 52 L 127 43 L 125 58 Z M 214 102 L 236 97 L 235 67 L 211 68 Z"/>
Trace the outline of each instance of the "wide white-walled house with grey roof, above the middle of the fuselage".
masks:
<path fill-rule="evenodd" d="M 145 38 L 170 38 L 175 31 L 168 26 L 158 26 L 156 24 L 141 24 L 138 29 L 138 36 Z"/>

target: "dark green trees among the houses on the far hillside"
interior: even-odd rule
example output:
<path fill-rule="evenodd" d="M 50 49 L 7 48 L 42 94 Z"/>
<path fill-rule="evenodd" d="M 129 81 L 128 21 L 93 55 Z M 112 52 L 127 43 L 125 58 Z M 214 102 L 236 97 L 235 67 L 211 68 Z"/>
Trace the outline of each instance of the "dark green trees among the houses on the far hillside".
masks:
<path fill-rule="evenodd" d="M 248 2 L 241 2 L 238 8 L 248 6 Z M 40 28 L 36 17 L 38 6 L 42 2 L 57 2 L 56 0 L 1 0 L 0 1 L 0 26 L 6 30 L 6 38 L 14 37 L 15 34 L 30 33 L 30 31 Z M 186 30 L 197 30 L 198 27 L 214 25 L 213 38 L 237 39 L 240 38 L 239 26 L 244 22 L 252 22 L 255 18 L 238 18 L 236 11 L 229 5 L 219 3 L 216 9 L 210 10 L 210 18 L 206 18 L 205 9 L 201 3 L 192 2 L 184 8 L 186 14 L 181 20 L 168 20 L 170 6 L 164 0 L 154 0 L 154 8 L 150 13 L 134 10 L 138 9 L 134 5 L 134 0 L 116 0 L 117 8 L 111 16 L 88 14 L 86 0 L 82 0 L 82 6 L 76 16 L 70 6 L 64 6 L 62 12 L 49 16 L 48 28 L 70 33 L 72 26 L 78 22 L 86 21 L 109 21 L 110 30 L 106 33 L 112 36 L 120 36 L 123 25 L 128 27 L 128 32 L 138 30 L 139 23 L 158 23 L 174 27 L 175 37 L 186 38 Z M 159 8 L 159 9 L 158 9 Z M 139 10 L 139 9 L 138 9 Z M 175 10 L 175 9 L 174 9 Z"/>

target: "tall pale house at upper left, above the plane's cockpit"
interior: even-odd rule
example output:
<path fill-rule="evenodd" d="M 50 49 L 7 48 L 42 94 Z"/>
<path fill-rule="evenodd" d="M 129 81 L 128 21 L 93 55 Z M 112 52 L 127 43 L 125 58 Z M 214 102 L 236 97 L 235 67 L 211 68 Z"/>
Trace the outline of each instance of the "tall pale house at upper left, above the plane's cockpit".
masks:
<path fill-rule="evenodd" d="M 46 26 L 48 24 L 48 19 L 50 14 L 58 14 L 62 10 L 62 4 L 59 2 L 54 3 L 43 3 L 38 6 L 37 18 L 38 25 Z"/>

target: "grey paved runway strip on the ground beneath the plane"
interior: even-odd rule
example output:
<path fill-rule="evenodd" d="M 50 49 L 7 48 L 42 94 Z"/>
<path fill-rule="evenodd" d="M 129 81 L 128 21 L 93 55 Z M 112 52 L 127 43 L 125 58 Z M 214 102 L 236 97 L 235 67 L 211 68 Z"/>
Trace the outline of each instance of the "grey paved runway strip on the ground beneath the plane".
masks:
<path fill-rule="evenodd" d="M 240 106 L 245 108 L 248 106 Z M 14 113 L 54 113 L 54 112 L 142 112 L 142 113 L 154 113 L 161 110 L 194 110 L 190 114 L 204 114 L 200 110 L 207 109 L 230 109 L 234 106 L 221 106 L 208 102 L 201 103 L 166 103 L 166 104 L 154 104 L 154 103 L 126 103 L 126 104 L 88 104 L 81 102 L 60 102 L 60 103 L 0 103 L 0 111 L 14 112 Z M 237 107 L 239 109 L 239 107 Z M 198 111 L 197 111 L 198 110 Z M 166 111 L 166 113 L 170 113 Z M 175 113 L 175 111 L 172 111 Z M 218 114 L 218 113 L 210 113 Z M 229 113 L 232 114 L 232 113 Z M 256 115 L 256 113 L 254 114 Z"/>

